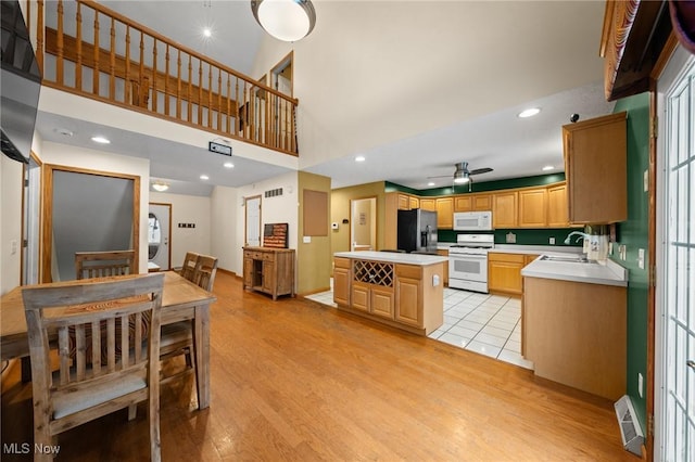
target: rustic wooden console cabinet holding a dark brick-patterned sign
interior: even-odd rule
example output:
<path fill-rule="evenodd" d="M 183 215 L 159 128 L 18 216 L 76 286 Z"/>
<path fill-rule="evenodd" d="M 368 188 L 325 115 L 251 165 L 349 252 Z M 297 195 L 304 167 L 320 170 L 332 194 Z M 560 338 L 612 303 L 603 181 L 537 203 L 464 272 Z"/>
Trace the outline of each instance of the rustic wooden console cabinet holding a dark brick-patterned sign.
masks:
<path fill-rule="evenodd" d="M 243 288 L 294 296 L 294 249 L 243 247 Z"/>

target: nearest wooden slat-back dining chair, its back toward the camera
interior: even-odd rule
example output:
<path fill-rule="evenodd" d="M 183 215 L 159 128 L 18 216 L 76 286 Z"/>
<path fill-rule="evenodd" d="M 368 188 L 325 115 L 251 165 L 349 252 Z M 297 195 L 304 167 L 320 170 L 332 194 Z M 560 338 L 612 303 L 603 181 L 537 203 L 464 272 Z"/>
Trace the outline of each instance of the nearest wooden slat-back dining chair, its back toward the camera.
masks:
<path fill-rule="evenodd" d="M 161 460 L 160 316 L 164 274 L 24 288 L 34 442 L 148 401 L 150 457 Z M 146 324 L 142 318 L 149 318 Z M 144 332 L 144 325 L 150 325 Z M 50 342 L 58 338 L 58 364 Z M 53 367 L 58 370 L 53 372 Z M 37 452 L 35 461 L 50 461 Z"/>

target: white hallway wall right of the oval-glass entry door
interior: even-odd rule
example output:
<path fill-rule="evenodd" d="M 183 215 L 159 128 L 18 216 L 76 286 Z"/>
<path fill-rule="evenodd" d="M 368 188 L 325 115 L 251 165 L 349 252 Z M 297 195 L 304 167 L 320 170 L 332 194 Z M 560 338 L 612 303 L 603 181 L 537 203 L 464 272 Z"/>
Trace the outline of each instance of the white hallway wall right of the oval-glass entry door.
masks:
<path fill-rule="evenodd" d="M 210 197 L 150 191 L 150 202 L 172 204 L 172 268 L 184 264 L 187 252 L 213 254 Z M 195 228 L 179 228 L 178 223 L 194 223 Z"/>

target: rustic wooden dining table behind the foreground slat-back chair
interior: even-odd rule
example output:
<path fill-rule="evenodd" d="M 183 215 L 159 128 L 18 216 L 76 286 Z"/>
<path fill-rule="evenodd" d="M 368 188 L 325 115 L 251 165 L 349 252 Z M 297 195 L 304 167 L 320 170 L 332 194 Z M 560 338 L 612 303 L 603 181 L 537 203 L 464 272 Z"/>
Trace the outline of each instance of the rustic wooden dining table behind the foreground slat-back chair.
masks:
<path fill-rule="evenodd" d="M 139 274 L 115 278 L 138 278 Z M 104 281 L 113 278 L 101 278 Z M 37 285 L 24 285 L 13 288 L 0 299 L 0 359 L 3 361 L 27 358 L 29 342 L 22 291 L 25 287 L 61 286 L 89 282 L 52 282 Z M 164 272 L 162 292 L 162 325 L 187 319 L 193 322 L 193 344 L 195 345 L 195 387 L 198 408 L 210 407 L 210 306 L 217 298 L 211 292 L 199 287 L 174 271 Z"/>

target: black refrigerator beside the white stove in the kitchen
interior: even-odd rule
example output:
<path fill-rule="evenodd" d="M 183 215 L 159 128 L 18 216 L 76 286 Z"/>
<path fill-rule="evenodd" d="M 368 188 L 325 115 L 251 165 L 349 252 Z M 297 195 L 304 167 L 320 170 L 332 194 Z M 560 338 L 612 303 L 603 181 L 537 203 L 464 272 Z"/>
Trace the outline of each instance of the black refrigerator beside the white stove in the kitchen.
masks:
<path fill-rule="evenodd" d="M 437 211 L 399 210 L 399 251 L 437 254 Z"/>

